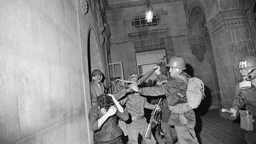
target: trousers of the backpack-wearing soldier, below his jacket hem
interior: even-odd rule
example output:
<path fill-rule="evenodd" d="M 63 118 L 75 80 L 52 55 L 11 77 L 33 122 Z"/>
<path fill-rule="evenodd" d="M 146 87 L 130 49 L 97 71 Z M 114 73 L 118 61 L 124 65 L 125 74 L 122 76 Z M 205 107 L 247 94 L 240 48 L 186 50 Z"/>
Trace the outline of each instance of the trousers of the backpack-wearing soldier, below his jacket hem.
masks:
<path fill-rule="evenodd" d="M 178 142 L 179 144 L 198 144 L 198 140 L 197 137 L 193 138 L 189 131 L 187 130 L 185 125 L 182 126 L 174 126 L 176 133 L 177 133 L 177 138 L 178 138 Z M 195 135 L 195 130 L 194 127 L 189 127 L 190 131 L 192 132 L 193 135 Z"/>

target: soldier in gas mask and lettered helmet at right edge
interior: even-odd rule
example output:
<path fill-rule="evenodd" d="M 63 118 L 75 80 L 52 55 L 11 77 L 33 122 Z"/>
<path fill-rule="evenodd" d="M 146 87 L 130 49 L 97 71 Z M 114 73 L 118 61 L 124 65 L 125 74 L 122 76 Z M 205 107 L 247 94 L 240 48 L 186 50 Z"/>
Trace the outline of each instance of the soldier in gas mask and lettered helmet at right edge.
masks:
<path fill-rule="evenodd" d="M 239 72 L 242 76 L 242 82 L 237 85 L 234 95 L 233 106 L 230 108 L 231 116 L 236 117 L 240 109 L 245 108 L 246 111 L 240 111 L 241 123 L 244 119 L 242 116 L 247 116 L 246 123 L 248 127 L 245 129 L 245 141 L 247 143 L 256 143 L 256 124 L 253 122 L 256 116 L 256 57 L 245 56 L 239 62 Z M 244 113 L 245 112 L 245 113 Z M 244 129 L 244 127 L 241 128 Z"/>

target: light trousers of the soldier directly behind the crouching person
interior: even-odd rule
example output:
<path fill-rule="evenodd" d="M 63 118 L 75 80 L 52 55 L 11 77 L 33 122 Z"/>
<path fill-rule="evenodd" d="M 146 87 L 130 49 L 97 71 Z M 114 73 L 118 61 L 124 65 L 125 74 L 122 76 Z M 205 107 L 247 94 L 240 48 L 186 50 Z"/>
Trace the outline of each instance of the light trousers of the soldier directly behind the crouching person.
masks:
<path fill-rule="evenodd" d="M 144 134 L 147 130 L 147 121 L 146 119 L 140 119 L 138 121 L 133 121 L 132 123 L 128 124 L 127 131 L 128 131 L 128 143 L 129 144 L 137 144 L 139 133 L 144 138 L 144 142 L 148 144 L 155 144 L 156 140 L 151 134 L 151 140 L 144 137 Z"/>

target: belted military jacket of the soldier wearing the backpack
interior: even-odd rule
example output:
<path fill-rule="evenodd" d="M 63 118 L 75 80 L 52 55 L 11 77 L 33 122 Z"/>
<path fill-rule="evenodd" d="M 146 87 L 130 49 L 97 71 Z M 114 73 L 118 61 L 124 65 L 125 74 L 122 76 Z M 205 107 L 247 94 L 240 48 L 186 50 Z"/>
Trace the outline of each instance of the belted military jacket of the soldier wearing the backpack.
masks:
<path fill-rule="evenodd" d="M 181 75 L 183 75 L 184 77 L 189 77 L 189 75 L 187 75 L 186 72 L 182 72 Z M 158 75 L 158 79 L 162 81 L 166 80 L 167 77 L 166 75 L 160 74 Z M 168 104 L 170 106 L 176 106 L 177 104 L 187 103 L 187 83 L 178 77 L 170 77 L 167 80 L 168 82 L 160 86 L 139 88 L 139 93 L 148 96 L 166 95 Z M 177 95 L 177 93 L 181 93 L 183 97 Z M 184 115 L 189 125 L 195 125 L 195 112 L 193 109 L 184 112 Z M 171 112 L 168 124 L 181 126 L 182 124 L 179 119 L 179 114 Z"/>

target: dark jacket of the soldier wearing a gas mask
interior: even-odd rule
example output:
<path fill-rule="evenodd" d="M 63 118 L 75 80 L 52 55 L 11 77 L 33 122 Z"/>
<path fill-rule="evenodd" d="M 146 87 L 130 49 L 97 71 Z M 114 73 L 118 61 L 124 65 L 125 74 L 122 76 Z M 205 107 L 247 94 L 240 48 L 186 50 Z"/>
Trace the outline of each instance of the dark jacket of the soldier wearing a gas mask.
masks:
<path fill-rule="evenodd" d="M 234 94 L 233 108 L 239 112 L 239 109 L 245 108 L 256 116 L 256 87 L 239 89 L 237 86 L 236 93 Z"/>

